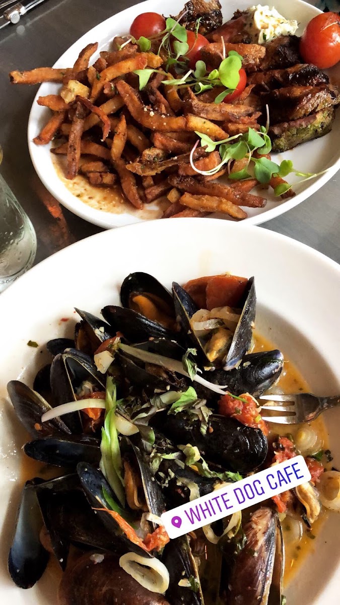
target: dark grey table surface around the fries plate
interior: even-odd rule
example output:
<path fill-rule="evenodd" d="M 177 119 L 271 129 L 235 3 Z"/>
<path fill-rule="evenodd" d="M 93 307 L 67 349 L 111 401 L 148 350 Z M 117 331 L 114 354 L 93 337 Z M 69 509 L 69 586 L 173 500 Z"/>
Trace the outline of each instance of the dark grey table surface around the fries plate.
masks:
<path fill-rule="evenodd" d="M 0 30 L 1 172 L 31 218 L 38 237 L 36 263 L 74 241 L 102 231 L 71 214 L 36 175 L 28 154 L 27 121 L 38 87 L 13 87 L 8 72 L 53 65 L 82 34 L 135 0 L 47 0 L 18 25 Z M 299 206 L 264 223 L 340 263 L 339 172 Z"/>

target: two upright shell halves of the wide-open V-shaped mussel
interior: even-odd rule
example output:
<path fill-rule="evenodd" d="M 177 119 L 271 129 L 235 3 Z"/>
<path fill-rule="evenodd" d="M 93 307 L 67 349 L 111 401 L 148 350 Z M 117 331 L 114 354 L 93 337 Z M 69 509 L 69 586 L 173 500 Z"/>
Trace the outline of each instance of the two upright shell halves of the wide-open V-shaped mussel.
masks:
<path fill-rule="evenodd" d="M 198 360 L 201 363 L 205 366 L 212 365 L 207 354 L 206 343 L 197 336 L 192 327 L 192 316 L 199 310 L 196 303 L 188 292 L 176 282 L 172 284 L 172 292 L 174 295 L 176 316 L 180 322 L 183 338 L 185 338 L 187 346 L 197 348 Z M 226 371 L 237 367 L 250 349 L 256 311 L 256 293 L 253 278 L 248 280 L 246 290 L 240 301 L 238 301 L 238 307 L 242 309 L 241 316 L 230 344 L 227 342 L 226 354 L 223 357 L 222 365 Z"/>

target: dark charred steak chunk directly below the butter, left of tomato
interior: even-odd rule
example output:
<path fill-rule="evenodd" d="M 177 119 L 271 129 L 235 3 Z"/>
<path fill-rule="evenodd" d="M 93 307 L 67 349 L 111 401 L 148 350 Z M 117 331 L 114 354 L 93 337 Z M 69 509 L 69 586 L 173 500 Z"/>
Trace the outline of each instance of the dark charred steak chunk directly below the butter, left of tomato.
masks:
<path fill-rule="evenodd" d="M 266 57 L 261 63 L 261 70 L 281 70 L 301 63 L 298 36 L 279 36 L 265 45 Z"/>

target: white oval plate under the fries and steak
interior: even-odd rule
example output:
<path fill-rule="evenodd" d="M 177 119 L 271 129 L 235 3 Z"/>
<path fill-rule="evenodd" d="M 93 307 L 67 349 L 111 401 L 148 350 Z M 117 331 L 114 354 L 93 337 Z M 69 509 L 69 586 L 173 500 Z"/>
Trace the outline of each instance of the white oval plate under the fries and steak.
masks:
<path fill-rule="evenodd" d="M 99 51 L 108 48 L 110 41 L 117 34 L 125 33 L 131 25 L 134 18 L 140 13 L 145 11 L 162 11 L 164 15 L 177 15 L 185 0 L 163 0 L 162 4 L 156 0 L 148 0 L 137 4 L 131 8 L 126 8 L 118 15 L 114 15 L 101 24 L 94 27 L 88 33 L 84 34 L 77 42 L 75 42 L 61 57 L 57 60 L 54 67 L 70 67 L 74 64 L 76 57 L 80 50 L 90 42 L 99 42 Z M 234 11 L 237 8 L 241 10 L 247 8 L 251 2 L 249 0 L 229 0 L 224 1 L 223 4 L 223 18 L 224 21 L 231 18 Z M 281 12 L 287 19 L 296 19 L 299 23 L 298 34 L 300 35 L 307 22 L 310 21 L 320 11 L 301 2 L 301 0 L 276 0 L 275 7 Z M 96 56 L 94 56 L 96 57 Z M 96 57 L 97 58 L 97 57 Z M 333 68 L 332 72 L 335 77 L 338 76 L 340 80 L 340 67 Z M 50 111 L 41 107 L 36 103 L 38 96 L 44 96 L 45 94 L 56 94 L 59 91 L 60 86 L 53 83 L 44 83 L 39 88 L 36 98 L 34 99 L 30 118 L 28 120 L 28 147 L 30 149 L 31 160 L 34 168 L 39 175 L 39 178 L 44 183 L 45 187 L 50 191 L 54 197 L 60 201 L 66 208 L 71 212 L 74 212 L 77 216 L 84 218 L 90 223 L 97 224 L 100 227 L 110 228 L 119 227 L 126 224 L 136 223 L 139 221 L 147 220 L 148 209 L 156 208 L 155 204 L 148 204 L 148 209 L 145 209 L 142 214 L 145 217 L 138 218 L 136 215 L 129 214 L 128 212 L 123 214 L 113 214 L 110 212 L 104 212 L 102 210 L 94 209 L 80 201 L 76 195 L 73 195 L 67 186 L 60 180 L 51 159 L 50 145 L 35 145 L 33 138 L 41 130 L 42 126 L 47 122 Z M 244 210 L 248 214 L 248 218 L 240 221 L 242 224 L 260 224 L 264 221 L 270 220 L 271 218 L 277 217 L 283 212 L 286 212 L 290 208 L 294 208 L 302 200 L 306 200 L 307 197 L 318 191 L 324 183 L 326 183 L 340 167 L 340 148 L 339 142 L 340 132 L 340 111 L 336 116 L 335 122 L 333 123 L 332 131 L 321 139 L 310 141 L 299 145 L 296 149 L 285 152 L 284 154 L 278 154 L 277 157 L 280 159 L 290 159 L 293 162 L 293 166 L 301 172 L 321 172 L 322 170 L 329 168 L 325 174 L 321 177 L 309 180 L 306 183 L 297 185 L 295 187 L 296 196 L 289 198 L 288 200 L 277 200 L 270 191 L 265 191 L 264 196 L 268 197 L 267 205 L 264 208 L 245 208 Z M 289 175 L 290 182 L 297 182 L 299 179 Z M 221 218 L 226 218 L 225 215 L 220 215 Z M 229 220 L 232 220 L 229 218 Z"/>

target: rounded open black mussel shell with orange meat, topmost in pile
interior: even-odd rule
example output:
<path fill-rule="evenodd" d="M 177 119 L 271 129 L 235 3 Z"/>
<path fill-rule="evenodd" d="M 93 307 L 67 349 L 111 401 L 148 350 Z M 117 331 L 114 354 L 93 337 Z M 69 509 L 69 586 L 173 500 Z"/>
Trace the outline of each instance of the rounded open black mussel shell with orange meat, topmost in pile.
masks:
<path fill-rule="evenodd" d="M 164 327 L 174 329 L 174 301 L 168 290 L 149 273 L 130 273 L 120 288 L 120 302 Z"/>

